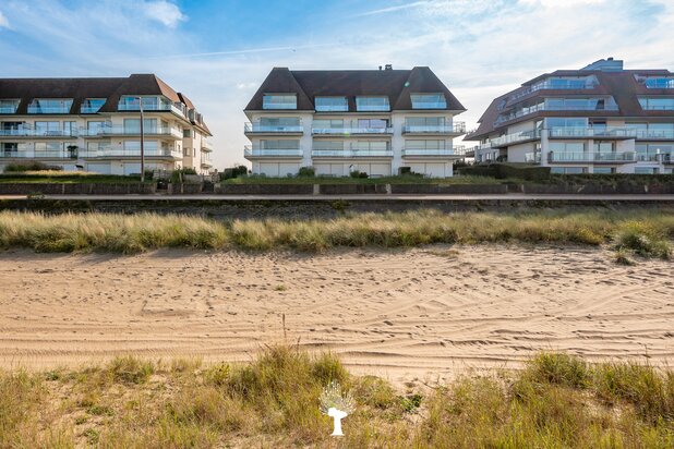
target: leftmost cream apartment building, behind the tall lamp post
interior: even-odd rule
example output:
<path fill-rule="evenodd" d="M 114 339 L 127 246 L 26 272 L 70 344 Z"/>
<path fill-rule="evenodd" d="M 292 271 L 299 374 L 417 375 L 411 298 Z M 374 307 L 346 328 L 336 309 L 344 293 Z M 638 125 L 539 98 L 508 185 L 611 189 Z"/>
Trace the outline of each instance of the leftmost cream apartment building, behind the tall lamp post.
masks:
<path fill-rule="evenodd" d="M 194 105 L 153 74 L 0 78 L 0 171 L 41 161 L 64 170 L 212 169 L 210 132 Z"/>

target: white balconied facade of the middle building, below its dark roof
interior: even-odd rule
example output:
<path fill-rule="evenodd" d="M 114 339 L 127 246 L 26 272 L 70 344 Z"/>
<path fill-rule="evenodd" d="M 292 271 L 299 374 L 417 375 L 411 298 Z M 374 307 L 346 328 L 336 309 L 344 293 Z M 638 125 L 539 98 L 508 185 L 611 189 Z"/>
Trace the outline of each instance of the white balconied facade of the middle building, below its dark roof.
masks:
<path fill-rule="evenodd" d="M 248 111 L 245 135 L 251 145 L 245 158 L 253 173 L 287 177 L 301 167 L 317 175 L 348 177 L 361 171 L 389 177 L 402 167 L 426 177 L 453 175 L 453 138 L 464 123 L 452 111 L 315 112 Z M 432 125 L 414 126 L 414 119 L 432 119 Z M 269 121 L 269 119 L 272 119 Z M 268 125 L 284 119 L 284 125 Z M 294 122 L 293 122 L 294 120 Z M 291 124 L 288 124 L 291 123 Z"/>

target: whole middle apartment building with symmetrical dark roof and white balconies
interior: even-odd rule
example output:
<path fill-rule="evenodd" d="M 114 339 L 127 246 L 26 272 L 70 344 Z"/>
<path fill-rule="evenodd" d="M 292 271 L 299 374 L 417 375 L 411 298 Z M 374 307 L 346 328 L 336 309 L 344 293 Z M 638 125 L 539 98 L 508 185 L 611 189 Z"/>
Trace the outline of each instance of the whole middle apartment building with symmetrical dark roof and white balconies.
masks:
<path fill-rule="evenodd" d="M 452 177 L 454 117 L 466 108 L 426 66 L 290 71 L 274 68 L 245 107 L 244 156 L 253 173 L 371 177 L 405 168 Z"/>

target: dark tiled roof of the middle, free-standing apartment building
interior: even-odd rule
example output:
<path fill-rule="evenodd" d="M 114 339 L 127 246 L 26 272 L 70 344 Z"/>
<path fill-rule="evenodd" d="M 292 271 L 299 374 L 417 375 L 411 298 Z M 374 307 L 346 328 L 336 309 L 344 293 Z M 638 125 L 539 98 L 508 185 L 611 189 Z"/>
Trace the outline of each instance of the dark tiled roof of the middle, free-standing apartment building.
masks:
<path fill-rule="evenodd" d="M 447 100 L 447 110 L 466 110 L 426 66 L 412 70 L 311 71 L 274 68 L 245 110 L 262 110 L 264 94 L 297 94 L 298 110 L 314 110 L 315 97 L 341 96 L 347 97 L 349 111 L 356 111 L 356 97 L 364 95 L 388 97 L 392 110 L 411 110 L 409 94 L 414 93 L 443 93 Z"/>

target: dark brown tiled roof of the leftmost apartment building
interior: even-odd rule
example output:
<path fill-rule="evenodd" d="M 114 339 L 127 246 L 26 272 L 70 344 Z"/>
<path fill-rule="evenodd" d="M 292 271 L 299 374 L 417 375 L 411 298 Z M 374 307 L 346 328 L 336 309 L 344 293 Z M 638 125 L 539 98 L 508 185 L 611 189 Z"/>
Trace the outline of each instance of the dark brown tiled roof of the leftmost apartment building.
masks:
<path fill-rule="evenodd" d="M 0 78 L 0 98 L 21 99 L 17 114 L 27 113 L 34 98 L 72 98 L 72 114 L 80 113 L 80 106 L 85 98 L 106 98 L 100 112 L 117 112 L 119 99 L 124 95 L 163 95 L 173 102 L 194 107 L 154 74 L 106 78 Z M 201 125 L 208 130 L 205 123 Z"/>

